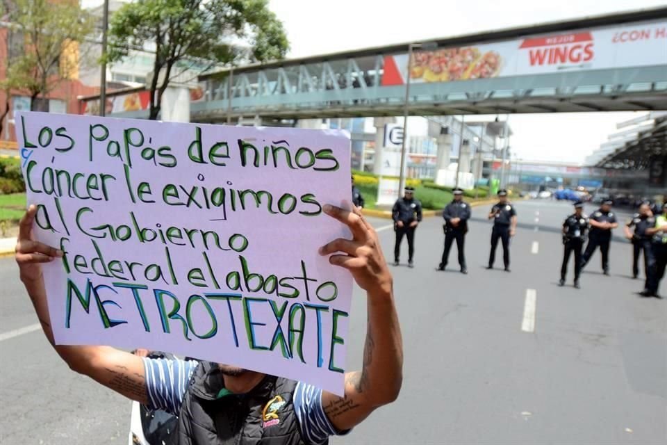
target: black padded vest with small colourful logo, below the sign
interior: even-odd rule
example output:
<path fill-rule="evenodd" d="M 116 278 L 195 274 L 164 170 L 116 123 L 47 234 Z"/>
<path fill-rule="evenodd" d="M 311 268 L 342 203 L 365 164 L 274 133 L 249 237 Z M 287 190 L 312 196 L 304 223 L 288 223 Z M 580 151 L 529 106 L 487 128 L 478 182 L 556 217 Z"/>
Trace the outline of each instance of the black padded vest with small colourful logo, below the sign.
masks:
<path fill-rule="evenodd" d="M 218 395 L 217 364 L 202 362 L 183 396 L 179 445 L 304 445 L 294 411 L 294 380 L 267 375 L 247 394 Z"/>

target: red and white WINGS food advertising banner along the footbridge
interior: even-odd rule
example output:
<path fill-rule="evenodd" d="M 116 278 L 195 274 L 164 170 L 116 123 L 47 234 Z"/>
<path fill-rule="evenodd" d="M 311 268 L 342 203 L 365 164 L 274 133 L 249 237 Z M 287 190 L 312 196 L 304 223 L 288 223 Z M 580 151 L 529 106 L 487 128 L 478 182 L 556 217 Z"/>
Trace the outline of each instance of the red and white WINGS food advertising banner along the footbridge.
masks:
<path fill-rule="evenodd" d="M 645 22 L 384 57 L 381 85 L 667 64 L 667 22 Z M 408 65 L 410 69 L 408 70 Z M 408 72 L 409 71 L 409 72 Z"/>

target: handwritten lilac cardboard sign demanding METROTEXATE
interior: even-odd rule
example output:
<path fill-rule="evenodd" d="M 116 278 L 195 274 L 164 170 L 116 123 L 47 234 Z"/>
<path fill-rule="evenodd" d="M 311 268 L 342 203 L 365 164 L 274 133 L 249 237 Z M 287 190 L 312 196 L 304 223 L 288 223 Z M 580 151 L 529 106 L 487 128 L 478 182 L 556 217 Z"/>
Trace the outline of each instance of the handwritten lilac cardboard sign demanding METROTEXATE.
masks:
<path fill-rule="evenodd" d="M 343 392 L 349 136 L 19 113 L 59 344 L 149 348 Z"/>

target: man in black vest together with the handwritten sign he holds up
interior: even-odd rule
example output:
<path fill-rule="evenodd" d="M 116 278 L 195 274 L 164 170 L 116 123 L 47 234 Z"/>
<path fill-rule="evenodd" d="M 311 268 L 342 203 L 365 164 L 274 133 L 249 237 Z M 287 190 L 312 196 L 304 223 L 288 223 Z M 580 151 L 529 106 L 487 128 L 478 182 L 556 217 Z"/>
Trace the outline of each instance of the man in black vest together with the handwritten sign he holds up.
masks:
<path fill-rule="evenodd" d="M 31 120 L 33 116 L 39 119 Z M 172 128 L 158 122 L 85 118 L 91 122 L 74 131 L 74 127 L 67 129 L 67 122 L 53 122 L 53 131 L 49 119 L 67 118 L 28 113 L 21 119 L 28 202 L 36 205 L 31 205 L 22 219 L 16 259 L 44 334 L 71 369 L 134 401 L 177 414 L 179 444 L 325 443 L 330 435 L 353 428 L 377 407 L 397 398 L 402 384 L 402 340 L 393 302 L 393 278 L 377 234 L 358 209 L 347 211 L 318 202 L 334 202 L 336 193 L 349 193 L 349 160 L 347 172 L 345 168 L 327 170 L 333 161 L 336 167 L 344 162 L 343 156 L 336 159 L 339 136 L 252 130 L 256 131 L 254 136 L 242 138 L 234 133 L 250 130 L 204 127 L 211 133 L 231 133 L 227 136 L 235 142 L 228 143 L 220 134 L 215 140 L 206 140 L 197 127 L 187 151 L 190 161 L 201 164 L 204 145 L 224 149 L 211 149 L 208 161 L 215 166 L 196 165 L 199 173 L 190 171 L 192 165 L 186 166 L 178 175 L 181 182 L 172 184 L 175 176 L 158 175 L 163 171 L 160 167 L 188 165 L 189 161 L 183 157 L 185 150 L 167 150 L 163 144 L 168 140 L 177 143 L 178 135 L 194 126 Z M 96 128 L 102 123 L 104 129 Z M 123 127 L 125 137 L 119 143 L 105 144 L 103 149 L 106 156 L 123 154 L 122 162 L 95 161 L 96 143 L 106 142 Z M 151 132 L 153 145 L 148 148 L 153 151 L 141 149 L 141 157 L 131 163 L 131 147 L 149 141 Z M 66 135 L 72 144 L 63 145 L 67 141 L 56 140 L 53 134 Z M 162 140 L 157 140 L 160 137 Z M 270 140 L 263 147 L 269 156 L 260 161 L 262 150 L 255 145 L 262 137 Z M 334 148 L 309 148 L 318 143 Z M 234 154 L 232 144 L 238 147 L 238 154 Z M 85 149 L 85 156 L 67 159 L 77 147 Z M 297 149 L 291 151 L 290 147 Z M 160 159 L 151 158 L 160 151 Z M 235 156 L 240 163 L 238 171 L 229 168 Z M 138 167 L 141 159 L 152 165 Z M 272 185 L 262 182 L 275 171 L 270 170 L 256 179 L 256 184 L 249 184 L 242 175 L 245 167 L 252 171 L 263 165 L 278 168 L 280 159 L 286 159 L 290 170 L 323 161 L 315 171 L 317 175 L 329 172 L 331 180 L 297 182 L 293 178 L 301 174 L 306 179 L 312 172 L 290 171 L 288 184 L 274 178 L 277 185 Z M 224 172 L 227 184 L 234 183 L 236 188 L 211 192 L 222 182 L 213 172 Z M 36 180 L 39 177 L 42 179 Z M 215 179 L 207 184 L 206 177 Z M 242 185 L 244 180 L 247 184 Z M 340 184 L 338 191 L 318 186 L 331 181 Z M 250 185 L 257 187 L 254 194 L 249 188 L 238 188 Z M 295 195 L 281 188 L 286 186 L 293 187 Z M 157 188 L 162 193 L 152 194 Z M 236 201 L 227 201 L 229 207 L 223 211 L 224 193 L 231 191 Z M 244 200 L 248 193 L 249 199 Z M 272 206 L 272 193 L 283 193 L 277 206 Z M 161 209 L 160 195 L 164 204 L 174 207 Z M 300 200 L 291 198 L 299 195 Z M 131 223 L 121 224 L 114 218 L 124 216 L 121 202 L 128 196 L 132 201 Z M 201 200 L 201 196 L 208 196 L 208 200 Z M 118 203 L 115 207 L 109 202 L 114 199 Z M 85 200 L 85 205 L 79 200 Z M 99 206 L 94 200 L 99 200 Z M 293 213 L 297 202 L 304 207 Z M 96 219 L 106 208 L 107 219 Z M 165 219 L 155 223 L 158 219 L 151 218 L 158 218 L 161 211 Z M 193 218 L 192 212 L 204 218 Z M 233 218 L 247 221 L 244 232 L 235 226 L 237 232 L 228 232 L 227 243 L 222 243 L 220 234 L 211 227 Z M 297 221 L 302 230 L 297 238 L 284 232 L 282 238 L 264 236 L 272 243 L 269 250 L 253 251 L 249 240 L 261 243 L 266 234 L 262 231 L 273 229 L 266 224 L 253 225 L 258 218 L 292 228 L 297 227 L 293 225 Z M 188 223 L 206 227 L 188 227 Z M 320 241 L 319 250 L 313 247 L 310 252 L 310 245 L 322 233 L 333 234 L 334 241 L 324 245 Z M 123 242 L 138 243 L 140 248 L 128 249 Z M 121 243 L 120 248 L 114 243 Z M 293 249 L 288 252 L 281 243 L 291 243 Z M 54 245 L 58 248 L 51 247 Z M 163 263 L 152 255 L 140 257 L 140 250 L 151 249 L 163 252 Z M 288 276 L 286 270 L 293 257 L 300 271 Z M 268 261 L 262 263 L 265 259 Z M 195 261 L 206 267 L 192 268 Z M 276 273 L 269 274 L 272 262 Z M 220 273 L 223 266 L 229 271 L 227 275 Z M 344 373 L 340 355 L 349 300 L 338 296 L 338 289 L 346 290 L 349 298 L 351 289 L 347 289 L 346 280 L 351 277 L 367 293 L 368 327 L 362 370 Z M 181 304 L 179 299 L 188 294 Z M 204 327 L 211 329 L 206 332 Z M 142 359 L 99 344 L 162 348 L 201 360 Z"/>

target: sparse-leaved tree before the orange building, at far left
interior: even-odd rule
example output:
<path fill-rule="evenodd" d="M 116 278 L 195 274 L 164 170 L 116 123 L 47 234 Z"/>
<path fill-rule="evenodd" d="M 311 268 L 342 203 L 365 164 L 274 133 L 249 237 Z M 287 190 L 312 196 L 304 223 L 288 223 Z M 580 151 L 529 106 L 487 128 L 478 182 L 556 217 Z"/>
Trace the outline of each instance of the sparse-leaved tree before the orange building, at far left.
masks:
<path fill-rule="evenodd" d="M 24 51 L 6 62 L 6 88 L 27 90 L 31 109 L 58 83 L 77 73 L 79 43 L 94 31 L 95 20 L 77 1 L 6 0 L 6 17 L 13 39 Z M 16 44 L 16 42 L 14 42 Z"/>

